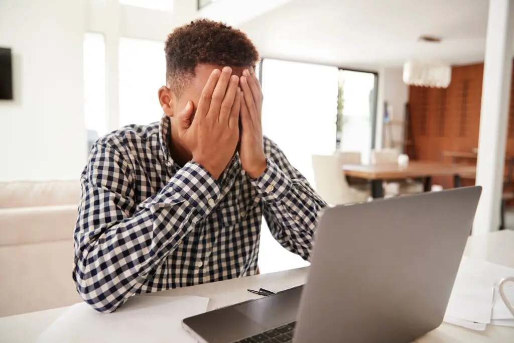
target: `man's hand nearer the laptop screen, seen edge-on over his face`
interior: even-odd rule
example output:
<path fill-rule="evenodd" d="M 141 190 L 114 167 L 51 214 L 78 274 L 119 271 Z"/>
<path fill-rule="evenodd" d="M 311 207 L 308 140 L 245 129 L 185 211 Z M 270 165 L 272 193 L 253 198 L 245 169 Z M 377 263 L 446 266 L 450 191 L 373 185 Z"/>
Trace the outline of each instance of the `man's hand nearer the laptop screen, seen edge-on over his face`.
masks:
<path fill-rule="evenodd" d="M 240 78 L 241 97 L 241 165 L 251 178 L 258 178 L 266 169 L 262 136 L 262 89 L 253 68 L 245 69 Z"/>

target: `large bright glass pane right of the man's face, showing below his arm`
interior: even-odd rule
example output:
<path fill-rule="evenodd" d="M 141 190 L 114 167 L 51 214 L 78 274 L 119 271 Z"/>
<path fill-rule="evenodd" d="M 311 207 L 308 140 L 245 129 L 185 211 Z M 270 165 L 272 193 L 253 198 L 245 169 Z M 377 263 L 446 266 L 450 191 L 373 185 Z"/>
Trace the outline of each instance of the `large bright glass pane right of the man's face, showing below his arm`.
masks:
<path fill-rule="evenodd" d="M 335 149 L 338 68 L 264 59 L 262 62 L 263 132 L 290 163 L 313 183 L 311 155 Z M 261 230 L 262 273 L 308 265 L 274 240 L 266 223 Z"/>

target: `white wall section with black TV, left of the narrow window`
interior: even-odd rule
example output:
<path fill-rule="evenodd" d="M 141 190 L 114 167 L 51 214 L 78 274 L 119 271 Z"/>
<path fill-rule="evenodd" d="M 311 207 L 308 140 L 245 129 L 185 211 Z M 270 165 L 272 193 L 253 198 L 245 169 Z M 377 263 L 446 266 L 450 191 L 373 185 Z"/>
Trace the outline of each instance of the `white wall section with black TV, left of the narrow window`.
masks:
<path fill-rule="evenodd" d="M 84 0 L 0 1 L 14 101 L 0 101 L 0 180 L 77 178 L 86 132 Z"/>

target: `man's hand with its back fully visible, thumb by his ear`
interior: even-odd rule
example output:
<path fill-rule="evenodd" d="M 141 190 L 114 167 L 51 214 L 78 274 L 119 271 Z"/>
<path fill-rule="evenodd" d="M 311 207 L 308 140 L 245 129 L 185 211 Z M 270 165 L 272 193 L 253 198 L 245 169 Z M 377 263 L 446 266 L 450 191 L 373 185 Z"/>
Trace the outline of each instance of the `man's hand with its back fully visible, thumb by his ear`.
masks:
<path fill-rule="evenodd" d="M 218 178 L 232 159 L 239 139 L 241 89 L 232 68 L 214 69 L 191 121 L 193 102 L 178 114 L 178 135 L 193 161 Z"/>

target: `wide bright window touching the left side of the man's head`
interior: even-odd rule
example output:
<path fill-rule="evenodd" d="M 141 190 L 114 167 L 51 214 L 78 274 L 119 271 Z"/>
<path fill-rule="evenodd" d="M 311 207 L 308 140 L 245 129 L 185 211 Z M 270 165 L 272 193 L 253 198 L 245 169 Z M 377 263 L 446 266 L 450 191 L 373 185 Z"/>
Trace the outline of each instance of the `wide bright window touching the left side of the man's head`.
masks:
<path fill-rule="evenodd" d="M 120 126 L 160 120 L 157 92 L 166 84 L 164 43 L 121 38 L 119 62 Z"/>

